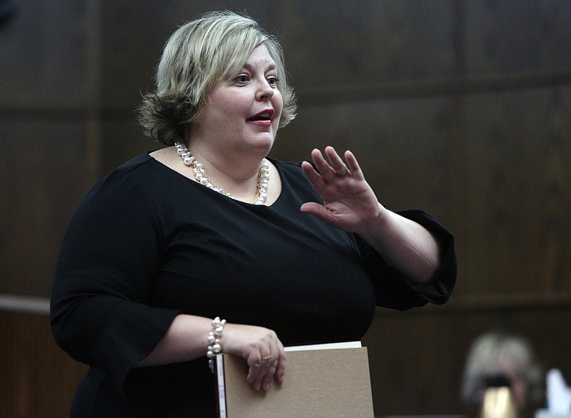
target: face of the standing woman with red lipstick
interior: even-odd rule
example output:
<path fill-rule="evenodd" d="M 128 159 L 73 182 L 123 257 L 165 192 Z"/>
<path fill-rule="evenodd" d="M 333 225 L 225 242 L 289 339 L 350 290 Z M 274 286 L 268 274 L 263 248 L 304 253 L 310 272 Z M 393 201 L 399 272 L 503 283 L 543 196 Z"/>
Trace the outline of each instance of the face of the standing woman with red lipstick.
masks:
<path fill-rule="evenodd" d="M 201 118 L 192 127 L 191 146 L 206 141 L 214 152 L 266 156 L 283 107 L 277 74 L 266 46 L 257 46 L 234 79 L 219 82 L 208 93 Z"/>

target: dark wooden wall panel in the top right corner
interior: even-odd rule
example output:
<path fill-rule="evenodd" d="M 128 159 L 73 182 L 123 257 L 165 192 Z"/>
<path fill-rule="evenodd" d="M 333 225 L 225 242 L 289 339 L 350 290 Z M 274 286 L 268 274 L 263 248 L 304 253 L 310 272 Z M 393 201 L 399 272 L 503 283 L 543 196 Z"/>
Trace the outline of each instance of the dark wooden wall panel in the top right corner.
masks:
<path fill-rule="evenodd" d="M 468 74 L 571 66 L 571 4 L 562 0 L 464 1 Z"/>

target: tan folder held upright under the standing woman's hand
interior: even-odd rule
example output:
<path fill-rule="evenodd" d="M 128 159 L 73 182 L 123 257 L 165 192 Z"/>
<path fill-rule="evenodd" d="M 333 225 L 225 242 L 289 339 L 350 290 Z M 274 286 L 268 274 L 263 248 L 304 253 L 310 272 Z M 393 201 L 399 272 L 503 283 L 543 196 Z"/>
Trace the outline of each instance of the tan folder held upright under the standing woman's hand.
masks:
<path fill-rule="evenodd" d="M 223 354 L 216 362 L 225 418 L 373 418 L 366 347 L 286 353 L 283 384 L 267 392 L 246 382 L 244 359 Z M 221 364 L 222 363 L 222 364 Z M 222 382 L 218 382 L 220 385 Z M 225 409 L 223 399 L 219 409 Z"/>

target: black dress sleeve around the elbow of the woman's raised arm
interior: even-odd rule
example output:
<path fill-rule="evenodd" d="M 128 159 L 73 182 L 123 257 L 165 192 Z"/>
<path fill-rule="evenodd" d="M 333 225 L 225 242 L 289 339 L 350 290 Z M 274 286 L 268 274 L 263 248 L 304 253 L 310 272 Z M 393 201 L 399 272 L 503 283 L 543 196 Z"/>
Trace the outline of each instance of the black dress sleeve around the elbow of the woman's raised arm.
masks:
<path fill-rule="evenodd" d="M 454 238 L 435 218 L 415 209 L 398 212 L 428 229 L 440 243 L 440 268 L 430 284 L 410 283 L 405 276 L 388 266 L 373 247 L 357 237 L 365 266 L 373 280 L 377 306 L 401 311 L 422 307 L 428 302 L 443 304 L 448 301 L 456 282 Z"/>

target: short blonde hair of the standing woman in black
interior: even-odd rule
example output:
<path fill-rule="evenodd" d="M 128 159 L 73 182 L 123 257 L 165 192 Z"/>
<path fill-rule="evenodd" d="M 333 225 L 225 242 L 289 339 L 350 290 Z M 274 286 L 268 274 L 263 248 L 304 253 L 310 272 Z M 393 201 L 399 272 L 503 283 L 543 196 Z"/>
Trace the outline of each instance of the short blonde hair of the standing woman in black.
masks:
<path fill-rule="evenodd" d="M 145 134 L 166 145 L 183 140 L 186 126 L 200 118 L 208 91 L 236 76 L 260 44 L 276 62 L 276 85 L 283 97 L 280 127 L 287 125 L 297 106 L 278 40 L 248 16 L 214 11 L 184 24 L 168 39 L 156 71 L 156 91 L 146 94 L 138 109 Z"/>

